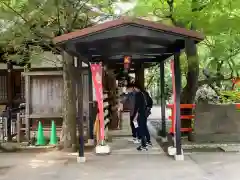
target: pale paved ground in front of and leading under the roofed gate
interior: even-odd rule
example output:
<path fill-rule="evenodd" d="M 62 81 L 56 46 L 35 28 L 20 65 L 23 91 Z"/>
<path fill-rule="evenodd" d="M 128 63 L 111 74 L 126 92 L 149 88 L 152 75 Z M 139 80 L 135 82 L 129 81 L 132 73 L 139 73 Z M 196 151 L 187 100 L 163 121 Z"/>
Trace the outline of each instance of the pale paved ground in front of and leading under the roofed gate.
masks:
<path fill-rule="evenodd" d="M 152 122 L 157 124 L 159 108 Z M 159 115 L 158 115 L 159 114 Z M 153 118 L 153 117 L 152 117 Z M 156 130 L 150 123 L 153 137 Z M 86 154 L 78 164 L 75 155 L 60 152 L 42 154 L 0 154 L 0 180 L 239 180 L 240 154 L 191 153 L 185 161 L 174 161 L 154 142 L 149 152 L 137 152 L 126 137 L 114 137 L 112 154 Z"/>

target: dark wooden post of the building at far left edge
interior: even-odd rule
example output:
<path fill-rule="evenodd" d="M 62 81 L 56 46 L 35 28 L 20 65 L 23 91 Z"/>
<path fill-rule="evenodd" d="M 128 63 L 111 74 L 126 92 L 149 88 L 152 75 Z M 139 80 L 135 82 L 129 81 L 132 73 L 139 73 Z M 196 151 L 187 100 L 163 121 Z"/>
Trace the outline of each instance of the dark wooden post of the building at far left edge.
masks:
<path fill-rule="evenodd" d="M 7 98 L 8 98 L 8 105 L 7 105 L 7 139 L 8 141 L 12 140 L 11 136 L 11 109 L 13 107 L 13 65 L 11 62 L 7 62 Z"/>

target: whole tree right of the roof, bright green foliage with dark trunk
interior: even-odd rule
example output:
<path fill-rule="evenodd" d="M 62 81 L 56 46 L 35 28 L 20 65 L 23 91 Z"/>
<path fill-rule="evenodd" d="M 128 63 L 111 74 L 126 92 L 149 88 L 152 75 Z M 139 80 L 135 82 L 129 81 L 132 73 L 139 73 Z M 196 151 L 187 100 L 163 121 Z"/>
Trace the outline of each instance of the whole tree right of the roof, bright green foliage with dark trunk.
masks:
<path fill-rule="evenodd" d="M 138 0 L 134 15 L 148 17 L 168 25 L 200 30 L 206 40 L 197 46 L 192 40 L 186 40 L 184 63 L 186 85 L 181 102 L 193 103 L 199 85 L 230 79 L 228 72 L 237 73 L 238 12 L 240 2 L 237 0 Z M 200 56 L 199 56 L 200 55 Z M 207 64 L 207 66 L 205 66 Z M 214 74 L 205 79 L 200 68 L 209 68 Z M 216 68 L 218 67 L 218 68 Z M 224 68 L 224 71 L 223 71 Z M 216 71 L 217 70 L 217 71 Z M 224 73 L 223 73 L 224 72 Z M 200 78 L 199 78 L 200 73 Z M 219 85 L 219 84 L 218 84 Z"/>

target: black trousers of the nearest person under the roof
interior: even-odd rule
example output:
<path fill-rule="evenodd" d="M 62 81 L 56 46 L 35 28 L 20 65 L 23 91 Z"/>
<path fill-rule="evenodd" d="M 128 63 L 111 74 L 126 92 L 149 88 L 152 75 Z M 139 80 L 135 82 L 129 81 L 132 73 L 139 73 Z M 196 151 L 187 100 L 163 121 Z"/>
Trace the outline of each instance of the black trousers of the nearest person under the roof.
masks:
<path fill-rule="evenodd" d="M 138 116 L 138 133 L 142 146 L 146 146 L 146 142 L 151 142 L 150 133 L 147 127 L 147 118 L 144 115 Z"/>

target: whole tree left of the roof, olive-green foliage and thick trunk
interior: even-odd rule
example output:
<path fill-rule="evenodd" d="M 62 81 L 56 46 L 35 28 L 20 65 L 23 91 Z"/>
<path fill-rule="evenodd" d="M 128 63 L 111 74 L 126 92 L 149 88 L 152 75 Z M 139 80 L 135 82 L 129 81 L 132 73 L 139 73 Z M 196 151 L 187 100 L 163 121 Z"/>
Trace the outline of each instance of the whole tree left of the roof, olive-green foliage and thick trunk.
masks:
<path fill-rule="evenodd" d="M 32 63 L 42 60 L 44 51 L 59 54 L 52 43 L 55 36 L 111 18 L 112 7 L 111 0 L 0 0 L 1 58 Z M 66 53 L 58 61 L 63 66 L 64 80 L 61 144 L 69 149 L 76 144 L 76 97 L 72 86 L 75 68 L 73 59 Z"/>

